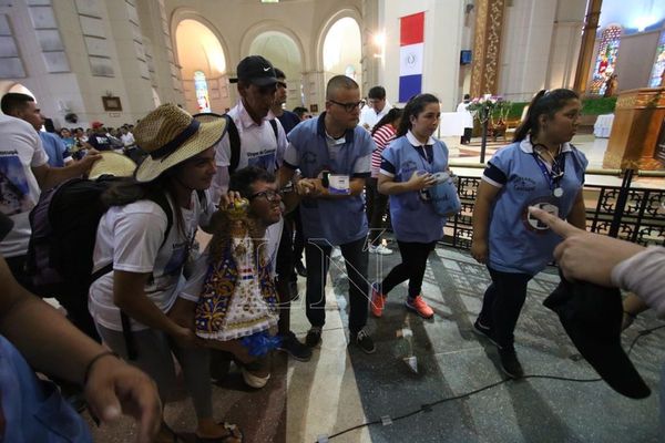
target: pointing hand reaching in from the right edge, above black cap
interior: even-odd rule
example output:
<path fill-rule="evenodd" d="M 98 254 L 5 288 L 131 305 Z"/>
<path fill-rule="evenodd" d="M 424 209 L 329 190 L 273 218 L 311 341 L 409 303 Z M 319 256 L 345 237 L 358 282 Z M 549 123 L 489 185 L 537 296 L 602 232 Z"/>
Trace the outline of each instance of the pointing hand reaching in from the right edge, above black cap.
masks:
<path fill-rule="evenodd" d="M 563 241 L 554 249 L 554 258 L 569 279 L 610 287 L 612 269 L 626 258 L 644 250 L 643 246 L 630 241 L 577 229 L 536 207 L 530 207 L 529 212 L 563 237 Z"/>

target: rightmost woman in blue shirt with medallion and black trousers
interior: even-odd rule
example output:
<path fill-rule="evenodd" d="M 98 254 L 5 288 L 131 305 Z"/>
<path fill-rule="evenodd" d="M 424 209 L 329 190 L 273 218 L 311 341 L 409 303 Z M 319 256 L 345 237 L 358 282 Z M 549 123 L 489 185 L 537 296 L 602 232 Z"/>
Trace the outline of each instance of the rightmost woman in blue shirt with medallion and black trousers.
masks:
<path fill-rule="evenodd" d="M 513 143 L 488 163 L 473 209 L 471 255 L 487 264 L 492 284 L 473 327 L 499 347 L 502 370 L 523 377 L 514 329 L 526 284 L 552 261 L 561 237 L 529 214 L 536 206 L 585 228 L 584 154 L 570 144 L 580 97 L 570 90 L 541 91 L 515 131 Z"/>

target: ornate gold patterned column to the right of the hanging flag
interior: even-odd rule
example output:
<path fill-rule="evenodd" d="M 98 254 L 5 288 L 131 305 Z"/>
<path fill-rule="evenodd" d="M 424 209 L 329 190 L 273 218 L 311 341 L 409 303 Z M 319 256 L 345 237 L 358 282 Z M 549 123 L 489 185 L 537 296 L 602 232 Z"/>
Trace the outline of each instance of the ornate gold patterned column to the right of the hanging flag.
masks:
<path fill-rule="evenodd" d="M 471 96 L 497 94 L 504 0 L 475 2 Z"/>

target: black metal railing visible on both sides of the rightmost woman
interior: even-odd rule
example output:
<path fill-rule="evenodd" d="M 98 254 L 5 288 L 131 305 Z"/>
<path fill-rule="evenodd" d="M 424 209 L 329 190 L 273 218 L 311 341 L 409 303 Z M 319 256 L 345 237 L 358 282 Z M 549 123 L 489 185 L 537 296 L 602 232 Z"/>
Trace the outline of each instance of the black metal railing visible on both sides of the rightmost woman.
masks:
<path fill-rule="evenodd" d="M 451 165 L 452 166 L 452 165 Z M 482 168 L 484 165 L 458 167 Z M 454 171 L 454 166 L 453 171 Z M 586 175 L 623 175 L 621 186 L 585 185 L 586 226 L 592 233 L 611 235 L 640 245 L 665 246 L 665 186 L 664 188 L 633 187 L 634 171 L 589 169 Z M 643 177 L 664 177 L 663 172 L 641 172 Z M 480 177 L 458 176 L 457 186 L 462 210 L 448 219 L 443 245 L 454 248 L 471 247 L 473 203 Z M 665 183 L 665 181 L 664 181 Z"/>

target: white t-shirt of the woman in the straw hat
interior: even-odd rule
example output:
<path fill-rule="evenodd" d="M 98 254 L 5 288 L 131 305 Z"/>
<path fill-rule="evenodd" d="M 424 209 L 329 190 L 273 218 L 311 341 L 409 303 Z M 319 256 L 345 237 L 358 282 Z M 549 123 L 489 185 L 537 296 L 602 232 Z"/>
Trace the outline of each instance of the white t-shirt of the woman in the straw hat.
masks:
<path fill-rule="evenodd" d="M 152 272 L 145 285 L 145 295 L 160 310 L 167 312 L 184 282 L 182 269 L 188 257 L 196 228 L 206 226 L 215 210 L 206 198 L 205 210 L 192 193 L 192 209 L 181 208 L 183 229 L 178 229 L 174 214 L 173 226 L 164 241 L 166 216 L 152 200 L 139 200 L 125 206 L 111 207 L 100 220 L 93 260 L 94 270 L 113 261 L 113 269 L 129 272 Z M 170 202 L 173 206 L 173 203 Z M 184 233 L 183 233 L 184 231 Z M 164 246 L 161 246 L 161 245 Z M 90 287 L 89 309 L 93 319 L 104 328 L 122 331 L 120 309 L 113 302 L 113 272 L 100 277 Z M 132 320 L 132 329 L 147 327 Z"/>

